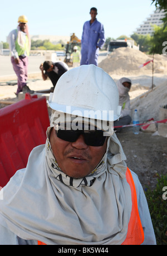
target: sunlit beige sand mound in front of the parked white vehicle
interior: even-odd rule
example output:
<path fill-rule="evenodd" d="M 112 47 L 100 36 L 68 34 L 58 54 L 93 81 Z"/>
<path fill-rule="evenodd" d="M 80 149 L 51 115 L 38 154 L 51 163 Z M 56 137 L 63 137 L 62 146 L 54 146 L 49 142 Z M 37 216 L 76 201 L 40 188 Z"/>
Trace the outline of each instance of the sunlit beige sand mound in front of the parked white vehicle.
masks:
<path fill-rule="evenodd" d="M 107 56 L 105 60 L 102 60 L 99 67 L 111 76 L 112 74 L 121 76 L 151 75 L 153 69 L 152 62 L 141 68 L 139 66 L 152 59 L 153 56 L 148 56 L 139 50 L 120 47 Z M 167 73 L 167 57 L 159 54 L 154 55 L 154 73 Z"/>

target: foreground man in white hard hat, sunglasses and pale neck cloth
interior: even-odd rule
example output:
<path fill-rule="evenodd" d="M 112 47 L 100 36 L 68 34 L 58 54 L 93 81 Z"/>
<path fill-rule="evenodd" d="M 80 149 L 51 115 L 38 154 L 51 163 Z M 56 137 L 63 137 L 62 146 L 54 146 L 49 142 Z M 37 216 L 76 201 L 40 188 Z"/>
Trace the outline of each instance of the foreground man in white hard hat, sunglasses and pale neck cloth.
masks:
<path fill-rule="evenodd" d="M 113 130 L 114 80 L 95 65 L 73 68 L 48 104 L 46 145 L 0 192 L 0 244 L 155 244 L 144 191 Z"/>

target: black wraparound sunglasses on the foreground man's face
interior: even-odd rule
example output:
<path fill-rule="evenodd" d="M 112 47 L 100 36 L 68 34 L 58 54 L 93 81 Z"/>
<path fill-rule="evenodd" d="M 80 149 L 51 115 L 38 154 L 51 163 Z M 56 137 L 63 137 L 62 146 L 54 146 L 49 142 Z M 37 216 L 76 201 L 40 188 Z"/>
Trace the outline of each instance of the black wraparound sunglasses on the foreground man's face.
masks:
<path fill-rule="evenodd" d="M 63 141 L 75 142 L 82 134 L 84 141 L 88 146 L 99 147 L 102 146 L 106 140 L 106 136 L 103 136 L 103 131 L 80 131 L 80 130 L 61 130 L 56 131 L 57 137 L 63 139 Z"/>

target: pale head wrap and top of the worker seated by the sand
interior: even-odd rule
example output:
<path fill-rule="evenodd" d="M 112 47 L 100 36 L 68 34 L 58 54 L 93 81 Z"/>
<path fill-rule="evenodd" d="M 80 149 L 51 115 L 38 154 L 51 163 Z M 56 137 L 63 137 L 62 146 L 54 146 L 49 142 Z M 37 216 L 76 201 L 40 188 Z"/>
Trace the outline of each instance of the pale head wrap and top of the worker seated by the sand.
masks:
<path fill-rule="evenodd" d="M 126 115 L 130 115 L 130 97 L 129 90 L 130 88 L 125 87 L 122 83 L 128 82 L 131 84 L 131 80 L 129 78 L 121 78 L 117 81 L 116 85 L 119 89 L 119 105 L 122 107 L 121 109 L 121 117 L 125 117 Z M 131 86 L 130 86 L 131 87 Z"/>

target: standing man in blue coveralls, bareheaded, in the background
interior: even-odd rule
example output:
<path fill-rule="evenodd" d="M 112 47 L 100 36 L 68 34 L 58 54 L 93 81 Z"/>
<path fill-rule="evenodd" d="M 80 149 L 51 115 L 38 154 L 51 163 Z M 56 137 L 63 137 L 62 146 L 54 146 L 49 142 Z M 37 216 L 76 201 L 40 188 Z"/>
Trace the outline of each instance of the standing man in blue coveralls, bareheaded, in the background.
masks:
<path fill-rule="evenodd" d="M 99 49 L 105 44 L 103 25 L 97 21 L 97 9 L 90 9 L 91 20 L 84 23 L 81 38 L 80 65 L 94 64 L 98 66 Z"/>

